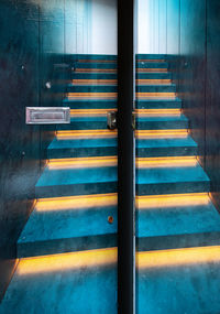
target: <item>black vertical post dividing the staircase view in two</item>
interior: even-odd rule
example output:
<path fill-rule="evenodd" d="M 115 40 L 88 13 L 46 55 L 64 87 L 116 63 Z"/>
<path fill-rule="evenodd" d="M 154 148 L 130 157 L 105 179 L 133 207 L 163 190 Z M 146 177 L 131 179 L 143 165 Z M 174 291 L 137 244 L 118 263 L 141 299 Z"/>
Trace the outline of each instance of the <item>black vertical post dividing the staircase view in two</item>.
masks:
<path fill-rule="evenodd" d="M 134 1 L 118 0 L 118 310 L 134 313 Z"/>

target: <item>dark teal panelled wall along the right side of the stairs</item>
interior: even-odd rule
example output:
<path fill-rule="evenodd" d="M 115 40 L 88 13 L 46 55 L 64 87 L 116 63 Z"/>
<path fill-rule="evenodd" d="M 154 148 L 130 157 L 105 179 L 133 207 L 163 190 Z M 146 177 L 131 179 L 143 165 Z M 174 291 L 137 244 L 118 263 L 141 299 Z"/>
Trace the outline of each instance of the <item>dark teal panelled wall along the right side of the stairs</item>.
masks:
<path fill-rule="evenodd" d="M 167 40 L 167 53 L 178 55 L 179 96 L 220 208 L 220 2 L 180 0 L 179 4 L 178 32 L 167 26 L 167 39 L 173 34 L 179 48 Z M 168 21 L 175 8 L 167 4 Z M 175 19 L 173 23 L 177 25 Z"/>

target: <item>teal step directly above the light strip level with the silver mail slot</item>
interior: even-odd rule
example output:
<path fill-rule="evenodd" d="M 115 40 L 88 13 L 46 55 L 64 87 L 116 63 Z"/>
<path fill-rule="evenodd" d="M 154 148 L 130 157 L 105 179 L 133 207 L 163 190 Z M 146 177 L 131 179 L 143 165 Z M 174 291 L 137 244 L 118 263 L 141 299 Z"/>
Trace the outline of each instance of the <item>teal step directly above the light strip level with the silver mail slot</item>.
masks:
<path fill-rule="evenodd" d="M 117 99 L 64 99 L 64 107 L 69 107 L 70 109 L 116 109 L 118 107 Z"/>

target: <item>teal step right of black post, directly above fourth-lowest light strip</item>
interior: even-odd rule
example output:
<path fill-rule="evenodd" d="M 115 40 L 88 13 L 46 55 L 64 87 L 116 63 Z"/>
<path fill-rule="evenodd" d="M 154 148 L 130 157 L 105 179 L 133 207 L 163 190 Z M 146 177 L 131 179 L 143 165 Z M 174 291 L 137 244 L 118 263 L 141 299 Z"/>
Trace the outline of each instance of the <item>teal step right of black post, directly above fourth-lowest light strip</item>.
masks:
<path fill-rule="evenodd" d="M 161 129 L 187 129 L 188 119 L 180 115 L 179 117 L 138 117 L 138 130 L 161 130 Z"/>

